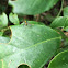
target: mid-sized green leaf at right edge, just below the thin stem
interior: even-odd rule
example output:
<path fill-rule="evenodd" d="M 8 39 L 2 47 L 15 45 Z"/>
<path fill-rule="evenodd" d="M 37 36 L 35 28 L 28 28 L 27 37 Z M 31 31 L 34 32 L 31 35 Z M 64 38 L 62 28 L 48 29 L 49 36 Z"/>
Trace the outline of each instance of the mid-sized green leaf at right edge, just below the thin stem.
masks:
<path fill-rule="evenodd" d="M 59 18 L 56 18 L 52 24 L 50 24 L 52 27 L 65 27 L 65 26 L 68 26 L 68 16 L 59 16 Z"/>

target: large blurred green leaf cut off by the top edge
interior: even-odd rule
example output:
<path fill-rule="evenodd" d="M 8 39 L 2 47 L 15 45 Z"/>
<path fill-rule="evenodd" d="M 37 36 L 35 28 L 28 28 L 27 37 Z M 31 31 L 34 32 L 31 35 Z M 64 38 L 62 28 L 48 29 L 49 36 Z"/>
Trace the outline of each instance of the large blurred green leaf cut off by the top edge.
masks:
<path fill-rule="evenodd" d="M 18 14 L 39 14 L 48 11 L 58 0 L 9 0 L 12 11 Z"/>

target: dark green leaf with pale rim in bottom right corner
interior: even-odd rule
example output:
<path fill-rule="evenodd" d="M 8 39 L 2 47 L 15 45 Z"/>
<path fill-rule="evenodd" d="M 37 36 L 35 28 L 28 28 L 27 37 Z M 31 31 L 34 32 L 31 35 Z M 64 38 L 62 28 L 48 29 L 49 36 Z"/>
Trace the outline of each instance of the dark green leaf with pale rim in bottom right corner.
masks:
<path fill-rule="evenodd" d="M 68 50 L 59 53 L 49 63 L 48 68 L 68 68 Z"/>

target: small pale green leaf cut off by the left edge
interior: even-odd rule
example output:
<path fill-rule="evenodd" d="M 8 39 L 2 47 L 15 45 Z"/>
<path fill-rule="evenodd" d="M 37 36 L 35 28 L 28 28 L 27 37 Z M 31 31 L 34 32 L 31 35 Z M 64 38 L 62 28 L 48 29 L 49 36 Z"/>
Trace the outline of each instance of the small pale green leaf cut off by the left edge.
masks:
<path fill-rule="evenodd" d="M 0 15 L 0 30 L 8 26 L 8 16 L 5 13 L 2 13 L 2 15 Z"/>

